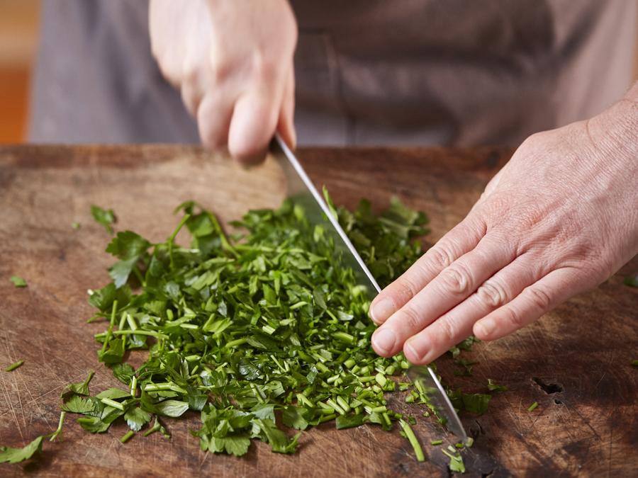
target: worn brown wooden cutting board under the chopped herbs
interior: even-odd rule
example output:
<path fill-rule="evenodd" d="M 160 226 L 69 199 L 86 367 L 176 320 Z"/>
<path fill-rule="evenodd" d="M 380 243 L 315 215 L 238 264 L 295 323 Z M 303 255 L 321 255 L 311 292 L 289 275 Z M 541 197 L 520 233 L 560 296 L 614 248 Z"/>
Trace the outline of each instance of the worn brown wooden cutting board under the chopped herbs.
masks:
<path fill-rule="evenodd" d="M 431 220 L 430 246 L 463 219 L 489 178 L 511 155 L 507 149 L 301 149 L 310 178 L 328 187 L 335 203 L 354 209 L 361 198 L 379 211 L 398 195 Z M 221 153 L 197 147 L 0 147 L 0 445 L 22 447 L 51 433 L 60 416 L 60 392 L 96 375 L 91 393 L 118 386 L 96 358 L 86 324 L 94 313 L 86 290 L 109 282 L 113 258 L 107 232 L 92 204 L 116 211 L 116 230 L 132 229 L 164 241 L 184 200 L 214 210 L 223 222 L 249 208 L 277 207 L 284 180 L 274 161 L 247 171 Z M 72 222 L 82 224 L 73 229 Z M 186 237 L 178 241 L 185 244 Z M 638 272 L 634 259 L 598 288 L 583 292 L 515 334 L 479 343 L 466 360 L 479 360 L 474 377 L 456 377 L 451 358 L 437 361 L 449 383 L 486 392 L 488 378 L 508 387 L 495 392 L 483 416 L 463 412 L 475 438 L 464 452 L 469 477 L 638 475 L 638 290 L 622 278 Z M 11 275 L 28 288 L 13 288 Z M 463 358 L 463 357 L 461 357 Z M 17 360 L 24 365 L 4 369 Z M 131 353 L 136 365 L 141 355 Z M 422 406 L 405 409 L 405 394 L 389 399 L 410 410 L 426 461 L 398 430 L 376 426 L 336 431 L 324 423 L 303 433 L 296 455 L 271 453 L 253 442 L 244 457 L 203 453 L 188 428 L 198 414 L 164 420 L 158 433 L 128 443 L 117 424 L 91 435 L 69 414 L 64 443 L 45 441 L 28 462 L 0 465 L 0 476 L 220 476 L 220 477 L 448 477 L 441 446 L 454 436 L 437 431 Z M 534 402 L 539 406 L 527 411 Z M 292 432 L 292 431 L 291 431 Z"/>

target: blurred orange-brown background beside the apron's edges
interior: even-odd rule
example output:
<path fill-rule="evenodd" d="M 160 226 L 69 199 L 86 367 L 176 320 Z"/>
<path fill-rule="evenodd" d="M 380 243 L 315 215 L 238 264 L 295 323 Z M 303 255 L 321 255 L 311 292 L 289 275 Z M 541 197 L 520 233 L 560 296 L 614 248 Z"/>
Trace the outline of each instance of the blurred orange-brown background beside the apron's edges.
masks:
<path fill-rule="evenodd" d="M 40 0 L 0 0 L 0 144 L 25 141 L 39 15 Z M 638 80 L 636 60 L 634 81 Z"/>

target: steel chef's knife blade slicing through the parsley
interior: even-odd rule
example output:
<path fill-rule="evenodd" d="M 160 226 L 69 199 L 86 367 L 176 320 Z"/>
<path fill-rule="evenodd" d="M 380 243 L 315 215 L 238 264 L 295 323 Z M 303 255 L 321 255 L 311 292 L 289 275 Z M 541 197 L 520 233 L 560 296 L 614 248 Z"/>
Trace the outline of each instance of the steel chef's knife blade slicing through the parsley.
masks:
<path fill-rule="evenodd" d="M 374 277 L 366 267 L 363 259 L 354 249 L 345 231 L 339 224 L 336 217 L 330 212 L 330 208 L 325 203 L 317 188 L 310 178 L 303 171 L 303 167 L 297 161 L 295 155 L 279 133 L 275 133 L 270 143 L 270 152 L 279 162 L 281 169 L 286 176 L 286 188 L 289 199 L 303 207 L 306 219 L 310 224 L 320 225 L 328 230 L 328 234 L 335 243 L 335 253 L 340 254 L 345 266 L 352 268 L 357 285 L 364 286 L 369 300 L 374 299 L 381 288 L 376 283 Z M 435 372 L 427 366 L 413 365 L 408 370 L 408 378 L 415 384 L 417 389 L 425 394 L 430 404 L 437 409 L 447 419 L 449 430 L 456 435 L 462 443 L 468 444 L 469 440 L 457 412 L 449 402 L 445 390 L 441 386 Z"/>

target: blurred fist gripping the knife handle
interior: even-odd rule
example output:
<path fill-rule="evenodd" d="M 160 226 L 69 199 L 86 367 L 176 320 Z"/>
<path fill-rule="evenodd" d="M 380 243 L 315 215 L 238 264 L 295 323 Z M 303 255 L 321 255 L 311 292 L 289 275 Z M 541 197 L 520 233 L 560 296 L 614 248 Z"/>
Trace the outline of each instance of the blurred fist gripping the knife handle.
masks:
<path fill-rule="evenodd" d="M 295 145 L 287 0 L 151 0 L 152 54 L 197 119 L 206 147 L 228 145 L 244 164 L 264 158 L 278 130 Z"/>

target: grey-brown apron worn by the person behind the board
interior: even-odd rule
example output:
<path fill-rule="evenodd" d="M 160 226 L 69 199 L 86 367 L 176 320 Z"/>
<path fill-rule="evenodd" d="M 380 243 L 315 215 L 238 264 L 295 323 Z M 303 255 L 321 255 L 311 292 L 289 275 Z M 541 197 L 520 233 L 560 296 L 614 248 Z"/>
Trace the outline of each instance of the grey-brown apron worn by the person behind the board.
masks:
<path fill-rule="evenodd" d="M 517 145 L 622 98 L 632 0 L 291 0 L 299 144 Z M 33 142 L 198 142 L 147 2 L 45 0 Z"/>

